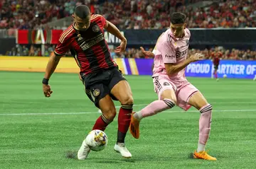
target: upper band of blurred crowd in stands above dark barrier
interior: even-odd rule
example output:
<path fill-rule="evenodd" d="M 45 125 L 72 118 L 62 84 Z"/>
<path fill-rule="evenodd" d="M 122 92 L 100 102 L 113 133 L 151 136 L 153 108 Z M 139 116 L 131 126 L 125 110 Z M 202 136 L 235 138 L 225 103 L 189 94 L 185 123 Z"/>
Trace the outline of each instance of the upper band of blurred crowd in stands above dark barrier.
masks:
<path fill-rule="evenodd" d="M 72 15 L 79 4 L 126 29 L 168 28 L 174 11 L 186 13 L 188 28 L 256 27 L 256 0 L 219 0 L 203 7 L 195 3 L 200 0 L 1 0 L 0 28 L 41 28 Z"/>

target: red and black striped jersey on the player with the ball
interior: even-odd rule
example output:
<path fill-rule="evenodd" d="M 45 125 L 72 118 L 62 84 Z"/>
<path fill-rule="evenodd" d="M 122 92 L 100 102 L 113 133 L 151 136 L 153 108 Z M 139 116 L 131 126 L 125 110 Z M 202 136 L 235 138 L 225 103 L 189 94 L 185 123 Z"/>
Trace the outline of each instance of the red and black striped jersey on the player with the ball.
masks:
<path fill-rule="evenodd" d="M 63 31 L 57 47 L 56 55 L 64 55 L 68 50 L 75 58 L 80 72 L 91 74 L 102 69 L 117 66 L 110 56 L 110 50 L 104 37 L 106 19 L 101 15 L 92 15 L 90 27 L 85 31 L 78 31 L 74 24 Z"/>

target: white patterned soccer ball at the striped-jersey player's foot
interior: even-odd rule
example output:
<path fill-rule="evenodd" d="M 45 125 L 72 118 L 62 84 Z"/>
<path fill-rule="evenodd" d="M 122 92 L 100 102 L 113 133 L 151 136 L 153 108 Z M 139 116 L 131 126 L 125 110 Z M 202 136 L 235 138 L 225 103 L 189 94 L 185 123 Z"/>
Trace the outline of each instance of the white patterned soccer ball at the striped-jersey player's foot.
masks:
<path fill-rule="evenodd" d="M 100 129 L 92 130 L 85 138 L 92 151 L 102 151 L 107 146 L 107 134 Z"/>

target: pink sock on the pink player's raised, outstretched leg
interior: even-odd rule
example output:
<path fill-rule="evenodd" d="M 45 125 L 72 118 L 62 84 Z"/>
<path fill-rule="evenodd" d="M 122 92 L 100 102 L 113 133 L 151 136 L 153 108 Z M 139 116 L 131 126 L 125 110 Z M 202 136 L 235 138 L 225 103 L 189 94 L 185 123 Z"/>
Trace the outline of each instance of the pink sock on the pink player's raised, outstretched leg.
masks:
<path fill-rule="evenodd" d="M 170 109 L 174 107 L 174 105 L 175 105 L 174 101 L 170 99 L 155 100 L 154 102 L 150 103 L 139 112 L 136 112 L 134 114 L 134 117 L 137 120 L 142 120 L 142 118 L 144 117 L 156 115 L 158 112 L 162 112 L 164 110 Z"/>

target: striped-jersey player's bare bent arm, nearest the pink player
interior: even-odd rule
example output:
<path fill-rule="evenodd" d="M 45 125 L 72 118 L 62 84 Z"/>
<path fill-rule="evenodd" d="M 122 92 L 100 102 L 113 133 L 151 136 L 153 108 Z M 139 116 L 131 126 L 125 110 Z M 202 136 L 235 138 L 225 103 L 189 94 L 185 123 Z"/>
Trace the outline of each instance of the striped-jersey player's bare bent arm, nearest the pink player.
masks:
<path fill-rule="evenodd" d="M 107 21 L 107 24 L 104 28 L 105 30 L 107 30 L 107 32 L 111 33 L 112 35 L 118 37 L 119 40 L 121 40 L 119 47 L 117 47 L 117 49 L 115 49 L 114 52 L 124 52 L 127 46 L 127 39 L 124 37 L 124 35 L 122 35 L 120 30 L 110 21 Z"/>

